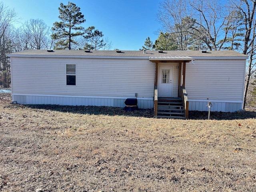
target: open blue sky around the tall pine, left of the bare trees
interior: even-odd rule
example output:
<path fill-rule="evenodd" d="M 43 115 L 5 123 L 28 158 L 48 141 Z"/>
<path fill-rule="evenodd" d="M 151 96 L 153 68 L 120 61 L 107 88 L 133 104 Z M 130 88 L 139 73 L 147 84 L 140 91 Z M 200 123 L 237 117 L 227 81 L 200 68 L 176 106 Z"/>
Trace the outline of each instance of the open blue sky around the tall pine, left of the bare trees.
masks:
<path fill-rule="evenodd" d="M 1 0 L 0 0 L 1 1 Z M 112 42 L 112 49 L 139 50 L 149 36 L 154 42 L 161 26 L 157 12 L 161 0 L 70 0 L 81 8 L 85 28 L 95 26 Z M 42 19 L 52 27 L 59 21 L 60 3 L 68 0 L 2 0 L 14 8 L 20 23 L 29 19 Z M 17 23 L 16 26 L 20 24 Z"/>

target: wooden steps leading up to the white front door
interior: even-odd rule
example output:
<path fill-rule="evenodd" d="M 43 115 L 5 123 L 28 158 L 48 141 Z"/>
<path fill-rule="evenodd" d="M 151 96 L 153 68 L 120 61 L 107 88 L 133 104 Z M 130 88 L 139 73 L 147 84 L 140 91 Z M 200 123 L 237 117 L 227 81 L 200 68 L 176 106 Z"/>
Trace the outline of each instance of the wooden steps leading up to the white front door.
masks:
<path fill-rule="evenodd" d="M 158 98 L 157 117 L 186 119 L 182 100 L 180 98 Z"/>

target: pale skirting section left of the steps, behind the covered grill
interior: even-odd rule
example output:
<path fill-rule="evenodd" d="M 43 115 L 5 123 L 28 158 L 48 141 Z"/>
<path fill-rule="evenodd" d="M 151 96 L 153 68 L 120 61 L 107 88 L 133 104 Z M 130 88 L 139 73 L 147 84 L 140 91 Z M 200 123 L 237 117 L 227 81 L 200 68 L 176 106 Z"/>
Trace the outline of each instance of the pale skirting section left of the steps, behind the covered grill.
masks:
<path fill-rule="evenodd" d="M 81 96 L 43 96 L 12 94 L 12 100 L 18 104 L 51 104 L 51 105 L 84 105 L 84 106 L 111 106 L 124 107 L 126 98 L 98 98 Z M 154 106 L 153 98 L 137 98 L 138 108 L 151 109 Z"/>

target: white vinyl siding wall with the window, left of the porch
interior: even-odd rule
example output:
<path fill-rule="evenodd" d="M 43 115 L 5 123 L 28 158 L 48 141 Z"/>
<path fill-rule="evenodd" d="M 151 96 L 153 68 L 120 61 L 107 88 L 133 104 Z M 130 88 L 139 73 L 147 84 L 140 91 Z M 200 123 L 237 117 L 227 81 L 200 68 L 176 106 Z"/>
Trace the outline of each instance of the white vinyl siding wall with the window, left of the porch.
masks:
<path fill-rule="evenodd" d="M 66 64 L 76 63 L 76 86 L 66 86 Z M 144 59 L 12 58 L 14 94 L 152 98 L 155 65 Z"/>

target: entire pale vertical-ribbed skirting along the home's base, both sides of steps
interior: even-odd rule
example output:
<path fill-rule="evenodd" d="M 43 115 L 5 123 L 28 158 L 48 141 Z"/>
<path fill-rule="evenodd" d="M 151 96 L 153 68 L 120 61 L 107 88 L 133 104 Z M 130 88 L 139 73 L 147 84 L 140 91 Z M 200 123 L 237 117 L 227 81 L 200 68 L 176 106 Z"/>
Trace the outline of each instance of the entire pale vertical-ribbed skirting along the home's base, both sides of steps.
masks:
<path fill-rule="evenodd" d="M 71 106 L 111 106 L 124 107 L 127 98 L 121 97 L 90 97 L 90 96 L 62 96 L 62 95 L 28 95 L 12 94 L 12 100 L 18 104 L 52 104 Z M 152 98 L 137 98 L 138 107 L 142 109 L 152 109 L 154 102 Z M 210 101 L 210 100 L 209 100 Z M 235 112 L 242 109 L 242 101 L 210 101 L 211 111 Z M 208 111 L 208 101 L 189 100 L 190 111 Z"/>

